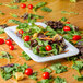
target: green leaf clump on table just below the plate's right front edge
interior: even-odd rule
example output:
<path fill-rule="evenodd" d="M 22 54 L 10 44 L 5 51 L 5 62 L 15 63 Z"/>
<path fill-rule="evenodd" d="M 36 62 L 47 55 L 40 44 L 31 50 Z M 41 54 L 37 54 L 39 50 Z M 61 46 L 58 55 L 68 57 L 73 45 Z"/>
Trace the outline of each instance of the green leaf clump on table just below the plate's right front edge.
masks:
<path fill-rule="evenodd" d="M 66 66 L 62 66 L 61 63 L 55 63 L 50 67 L 52 70 L 56 70 L 56 73 L 62 73 L 68 71 Z"/>

